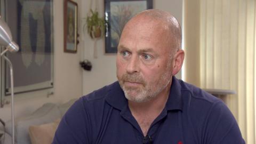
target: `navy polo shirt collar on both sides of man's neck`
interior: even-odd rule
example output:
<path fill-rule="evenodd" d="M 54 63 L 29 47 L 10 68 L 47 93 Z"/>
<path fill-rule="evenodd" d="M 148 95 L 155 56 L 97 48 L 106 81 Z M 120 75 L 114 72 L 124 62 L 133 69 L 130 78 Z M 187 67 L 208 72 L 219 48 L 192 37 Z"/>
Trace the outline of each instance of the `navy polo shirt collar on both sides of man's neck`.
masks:
<path fill-rule="evenodd" d="M 115 82 L 109 88 L 110 90 L 106 95 L 106 101 L 109 103 L 109 105 L 119 110 L 126 108 L 128 102 L 119 83 Z M 181 95 L 181 85 L 179 80 L 173 76 L 169 98 L 166 102 L 166 110 L 182 110 L 182 108 L 183 101 Z"/>

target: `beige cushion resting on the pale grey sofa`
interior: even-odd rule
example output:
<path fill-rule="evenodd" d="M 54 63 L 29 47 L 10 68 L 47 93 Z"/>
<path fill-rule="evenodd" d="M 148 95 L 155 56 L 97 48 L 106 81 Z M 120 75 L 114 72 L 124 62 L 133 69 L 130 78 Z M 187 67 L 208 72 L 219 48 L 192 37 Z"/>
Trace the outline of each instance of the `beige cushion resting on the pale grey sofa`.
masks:
<path fill-rule="evenodd" d="M 60 118 L 52 123 L 29 126 L 29 135 L 32 144 L 52 143 L 54 133 L 60 123 Z"/>

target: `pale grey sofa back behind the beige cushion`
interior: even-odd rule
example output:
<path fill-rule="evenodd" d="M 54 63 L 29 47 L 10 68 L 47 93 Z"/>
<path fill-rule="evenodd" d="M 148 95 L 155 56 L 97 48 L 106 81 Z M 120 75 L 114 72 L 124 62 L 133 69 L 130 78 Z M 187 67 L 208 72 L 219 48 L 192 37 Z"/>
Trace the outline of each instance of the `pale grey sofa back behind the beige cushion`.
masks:
<path fill-rule="evenodd" d="M 30 143 L 28 128 L 30 125 L 40 125 L 61 118 L 60 110 L 54 103 L 45 103 L 32 115 L 15 119 L 15 140 L 17 144 Z M 6 123 L 6 132 L 11 133 L 11 121 Z"/>

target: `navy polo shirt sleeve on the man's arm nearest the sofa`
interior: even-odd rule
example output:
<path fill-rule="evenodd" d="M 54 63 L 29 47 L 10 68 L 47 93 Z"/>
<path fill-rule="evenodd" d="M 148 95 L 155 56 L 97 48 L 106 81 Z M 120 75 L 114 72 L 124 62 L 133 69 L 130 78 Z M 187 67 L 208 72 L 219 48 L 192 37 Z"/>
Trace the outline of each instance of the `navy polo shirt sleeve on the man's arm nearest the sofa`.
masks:
<path fill-rule="evenodd" d="M 91 143 L 89 120 L 83 100 L 80 98 L 62 117 L 52 143 Z"/>

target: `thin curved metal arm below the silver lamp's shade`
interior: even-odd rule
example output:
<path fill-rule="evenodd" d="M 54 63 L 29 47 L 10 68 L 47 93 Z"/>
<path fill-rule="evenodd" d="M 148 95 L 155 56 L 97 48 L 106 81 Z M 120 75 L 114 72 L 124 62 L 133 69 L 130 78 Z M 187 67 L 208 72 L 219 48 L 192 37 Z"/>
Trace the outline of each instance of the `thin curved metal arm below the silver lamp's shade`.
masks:
<path fill-rule="evenodd" d="M 3 52 L 4 53 L 4 52 Z M 1 53 L 1 55 L 3 54 Z M 10 78 L 11 78 L 11 98 L 12 98 L 12 144 L 14 144 L 14 93 L 13 93 L 13 67 L 12 67 L 12 62 L 5 56 L 2 55 L 6 62 L 9 65 L 10 68 Z"/>

